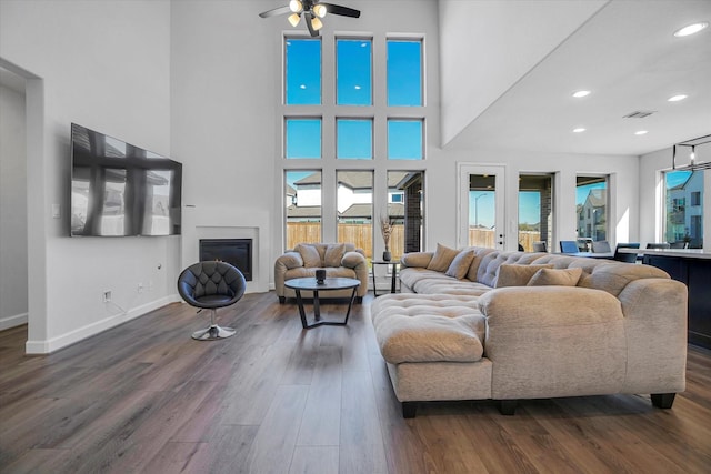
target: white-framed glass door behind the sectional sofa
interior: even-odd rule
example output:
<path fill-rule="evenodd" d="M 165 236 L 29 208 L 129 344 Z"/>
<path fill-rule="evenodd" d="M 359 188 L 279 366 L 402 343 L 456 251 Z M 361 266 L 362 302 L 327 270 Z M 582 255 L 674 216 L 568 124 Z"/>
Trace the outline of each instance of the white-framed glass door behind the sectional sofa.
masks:
<path fill-rule="evenodd" d="M 505 248 L 504 170 L 498 165 L 460 165 L 459 248 Z"/>

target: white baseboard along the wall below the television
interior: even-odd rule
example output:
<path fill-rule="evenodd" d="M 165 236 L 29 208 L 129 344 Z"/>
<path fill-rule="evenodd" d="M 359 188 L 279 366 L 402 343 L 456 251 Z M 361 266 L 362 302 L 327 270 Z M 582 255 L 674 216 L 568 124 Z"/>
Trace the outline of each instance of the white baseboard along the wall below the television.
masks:
<path fill-rule="evenodd" d="M 83 327 L 79 327 L 74 331 L 70 331 L 57 337 L 44 341 L 27 341 L 27 343 L 24 344 L 24 352 L 27 354 L 49 354 L 51 352 L 67 347 L 68 345 L 74 344 L 81 340 L 110 330 L 111 327 L 116 327 L 128 321 L 140 317 L 153 310 L 158 310 L 159 307 L 164 306 L 166 304 L 176 303 L 178 301 L 182 300 L 180 300 L 180 296 L 178 296 L 177 294 L 169 295 L 166 297 L 161 297 L 160 300 L 143 304 L 141 306 L 137 306 L 127 313 L 117 314 L 116 316 L 106 317 L 101 321 L 97 321 L 96 323 L 87 324 Z"/>

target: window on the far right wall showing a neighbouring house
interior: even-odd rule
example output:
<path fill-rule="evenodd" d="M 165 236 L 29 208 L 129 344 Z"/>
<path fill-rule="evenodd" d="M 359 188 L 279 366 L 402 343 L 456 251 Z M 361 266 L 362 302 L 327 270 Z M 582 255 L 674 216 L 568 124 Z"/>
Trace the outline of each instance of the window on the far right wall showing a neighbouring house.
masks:
<path fill-rule="evenodd" d="M 703 248 L 703 171 L 669 171 L 664 178 L 664 241 Z"/>

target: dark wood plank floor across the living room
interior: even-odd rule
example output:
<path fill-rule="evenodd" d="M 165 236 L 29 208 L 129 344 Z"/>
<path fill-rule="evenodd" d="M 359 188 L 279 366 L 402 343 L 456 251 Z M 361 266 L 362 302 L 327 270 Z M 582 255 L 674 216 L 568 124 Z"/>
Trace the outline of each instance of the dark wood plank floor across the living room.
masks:
<path fill-rule="evenodd" d="M 369 320 L 302 331 L 294 304 L 249 294 L 238 334 L 171 304 L 49 356 L 0 333 L 2 473 L 711 472 L 711 354 L 690 349 L 672 410 L 648 395 L 424 404 L 401 417 Z M 343 305 L 324 305 L 342 315 Z M 594 361 L 591 361 L 591 363 Z"/>

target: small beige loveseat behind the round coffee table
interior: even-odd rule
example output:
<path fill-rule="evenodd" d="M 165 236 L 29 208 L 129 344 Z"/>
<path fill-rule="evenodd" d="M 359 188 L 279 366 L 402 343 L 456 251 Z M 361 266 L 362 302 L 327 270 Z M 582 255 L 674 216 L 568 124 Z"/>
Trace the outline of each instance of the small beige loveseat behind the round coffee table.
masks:
<path fill-rule="evenodd" d="M 316 278 L 316 271 L 326 270 L 326 278 L 346 276 L 360 281 L 356 292 L 357 302 L 368 293 L 368 262 L 362 249 L 352 243 L 300 243 L 288 250 L 274 262 L 274 289 L 279 302 L 296 297 L 293 290 L 284 286 L 284 281 L 303 276 Z M 319 294 L 323 299 L 351 297 L 352 290 L 333 290 Z M 302 292 L 308 295 L 309 292 Z"/>

